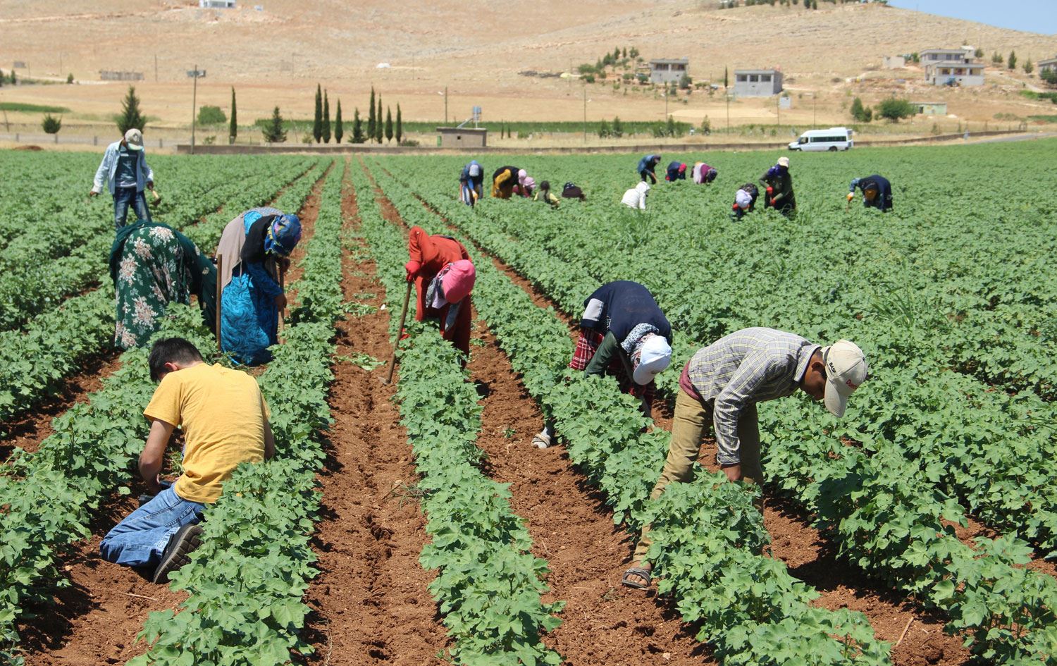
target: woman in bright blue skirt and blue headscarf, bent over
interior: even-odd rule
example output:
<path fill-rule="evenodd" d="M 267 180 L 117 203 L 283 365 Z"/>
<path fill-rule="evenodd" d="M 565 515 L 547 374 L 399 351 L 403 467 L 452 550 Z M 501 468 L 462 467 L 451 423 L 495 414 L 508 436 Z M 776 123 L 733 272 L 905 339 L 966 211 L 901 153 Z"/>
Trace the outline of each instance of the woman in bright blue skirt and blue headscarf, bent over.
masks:
<path fill-rule="evenodd" d="M 279 311 L 286 308 L 281 275 L 301 240 L 301 221 L 277 208 L 253 208 L 227 223 L 217 245 L 223 258 L 221 349 L 238 363 L 272 359 L 279 341 Z"/>

